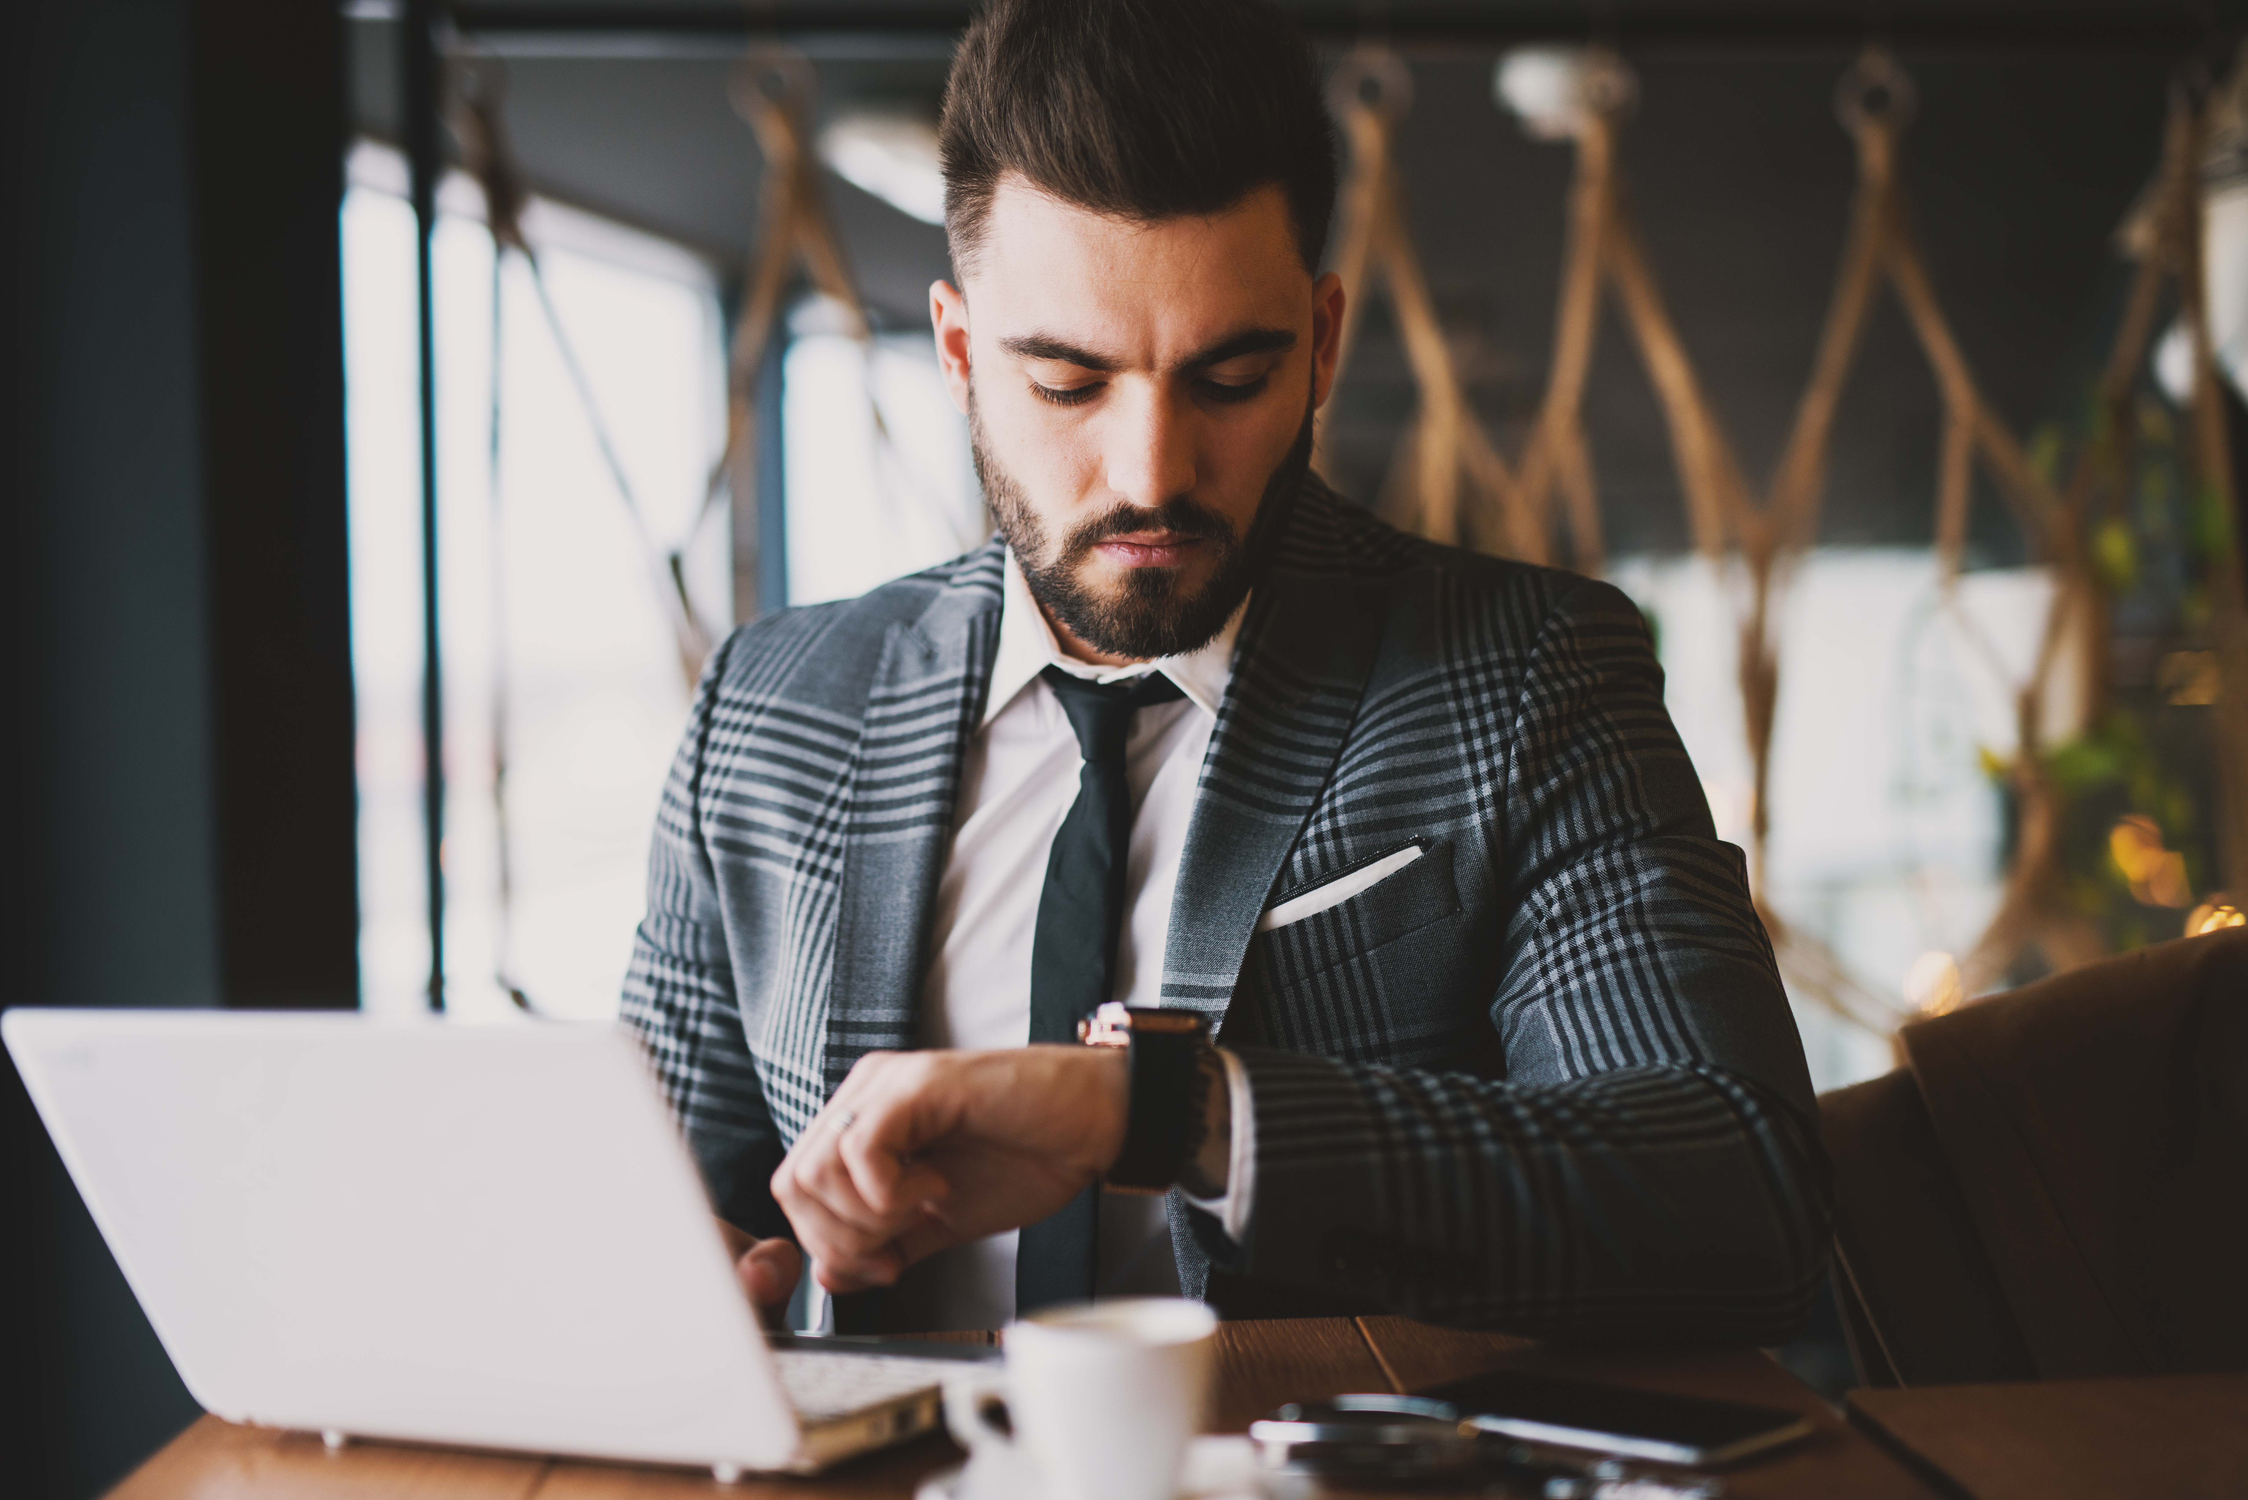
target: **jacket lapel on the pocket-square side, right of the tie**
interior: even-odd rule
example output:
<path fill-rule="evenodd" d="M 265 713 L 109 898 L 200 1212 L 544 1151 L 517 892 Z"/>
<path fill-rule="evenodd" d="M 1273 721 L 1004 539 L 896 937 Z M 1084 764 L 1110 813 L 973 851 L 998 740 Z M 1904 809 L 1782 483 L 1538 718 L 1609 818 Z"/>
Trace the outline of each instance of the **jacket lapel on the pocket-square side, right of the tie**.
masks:
<path fill-rule="evenodd" d="M 1225 1023 L 1257 918 L 1358 717 L 1378 616 L 1351 580 L 1335 499 L 1308 481 L 1257 585 L 1178 861 L 1162 1003 Z"/>

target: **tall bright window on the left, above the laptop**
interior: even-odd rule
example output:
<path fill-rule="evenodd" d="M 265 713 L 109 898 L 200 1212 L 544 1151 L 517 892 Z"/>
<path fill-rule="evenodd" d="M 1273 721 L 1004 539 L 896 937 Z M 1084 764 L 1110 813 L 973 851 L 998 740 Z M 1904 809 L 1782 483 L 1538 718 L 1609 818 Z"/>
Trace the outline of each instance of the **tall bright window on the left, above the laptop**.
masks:
<path fill-rule="evenodd" d="M 643 911 L 647 832 L 688 706 L 668 585 L 618 493 L 528 268 L 508 256 L 495 279 L 470 182 L 447 180 L 438 209 L 447 1007 L 468 1016 L 513 1010 L 499 983 L 506 967 L 544 1014 L 607 1016 Z M 704 513 L 706 475 L 724 441 L 713 274 L 677 245 L 553 202 L 535 202 L 526 229 L 654 551 L 683 549 L 695 609 L 722 632 L 733 614 L 728 528 L 722 510 Z M 423 1005 L 429 947 L 414 214 L 396 153 L 353 151 L 342 232 L 360 972 L 369 1010 L 402 1012 Z M 506 913 L 492 798 L 501 693 Z"/>

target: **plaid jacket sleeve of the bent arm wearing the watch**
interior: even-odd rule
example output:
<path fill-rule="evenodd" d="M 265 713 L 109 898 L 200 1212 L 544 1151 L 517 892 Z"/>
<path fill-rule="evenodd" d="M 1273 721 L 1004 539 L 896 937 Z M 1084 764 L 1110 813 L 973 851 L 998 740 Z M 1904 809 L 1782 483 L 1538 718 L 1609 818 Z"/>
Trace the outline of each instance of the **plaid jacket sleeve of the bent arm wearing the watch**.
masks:
<path fill-rule="evenodd" d="M 1488 726 L 1506 1077 L 1241 1048 L 1254 1199 L 1239 1244 L 1196 1237 L 1227 1273 L 1461 1327 L 1778 1343 L 1825 1268 L 1832 1176 L 1630 600 L 1576 585 L 1511 713 Z"/>

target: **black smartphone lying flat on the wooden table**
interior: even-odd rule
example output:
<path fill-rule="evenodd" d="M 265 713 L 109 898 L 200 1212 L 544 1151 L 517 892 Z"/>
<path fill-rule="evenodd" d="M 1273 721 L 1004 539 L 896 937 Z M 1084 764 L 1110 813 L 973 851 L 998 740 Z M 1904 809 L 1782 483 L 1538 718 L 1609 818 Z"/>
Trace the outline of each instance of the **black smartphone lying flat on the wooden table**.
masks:
<path fill-rule="evenodd" d="M 1535 1374 L 1479 1374 L 1416 1394 L 1457 1408 L 1461 1421 L 1472 1421 L 1484 1433 L 1659 1464 L 1731 1464 L 1810 1437 L 1812 1430 L 1807 1419 L 1778 1408 Z"/>

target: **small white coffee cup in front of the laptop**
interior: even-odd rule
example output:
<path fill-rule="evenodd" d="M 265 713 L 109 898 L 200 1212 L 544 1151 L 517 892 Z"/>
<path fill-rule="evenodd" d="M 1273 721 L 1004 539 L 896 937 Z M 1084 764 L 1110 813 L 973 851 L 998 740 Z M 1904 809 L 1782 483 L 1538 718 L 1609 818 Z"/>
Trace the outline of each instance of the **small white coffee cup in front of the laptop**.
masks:
<path fill-rule="evenodd" d="M 1216 1327 L 1185 1298 L 1050 1307 L 1007 1327 L 1003 1374 L 946 1385 L 944 1424 L 1025 1500 L 1173 1500 Z"/>

